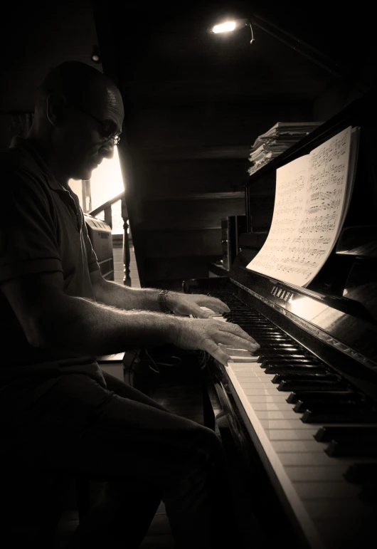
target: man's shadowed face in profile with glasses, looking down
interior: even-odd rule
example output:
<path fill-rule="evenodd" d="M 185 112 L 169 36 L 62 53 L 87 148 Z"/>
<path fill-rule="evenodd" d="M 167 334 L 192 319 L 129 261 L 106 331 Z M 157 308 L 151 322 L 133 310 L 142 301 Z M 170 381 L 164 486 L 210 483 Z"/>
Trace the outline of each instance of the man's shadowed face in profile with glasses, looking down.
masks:
<path fill-rule="evenodd" d="M 85 105 L 68 104 L 68 117 L 58 136 L 58 155 L 69 179 L 90 179 L 93 169 L 112 157 L 123 117 L 117 90 L 102 90 Z"/>

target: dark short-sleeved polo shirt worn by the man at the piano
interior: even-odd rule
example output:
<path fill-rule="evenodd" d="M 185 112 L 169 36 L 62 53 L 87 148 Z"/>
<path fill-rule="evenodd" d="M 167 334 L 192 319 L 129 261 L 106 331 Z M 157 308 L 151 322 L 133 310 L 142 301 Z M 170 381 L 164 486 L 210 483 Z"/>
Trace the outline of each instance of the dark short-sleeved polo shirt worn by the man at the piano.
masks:
<path fill-rule="evenodd" d="M 53 176 L 29 140 L 14 137 L 0 151 L 0 408 L 28 406 L 62 375 L 81 373 L 106 387 L 96 357 L 33 347 L 1 283 L 60 271 L 68 296 L 95 300 L 90 273 L 99 269 L 77 195 Z"/>

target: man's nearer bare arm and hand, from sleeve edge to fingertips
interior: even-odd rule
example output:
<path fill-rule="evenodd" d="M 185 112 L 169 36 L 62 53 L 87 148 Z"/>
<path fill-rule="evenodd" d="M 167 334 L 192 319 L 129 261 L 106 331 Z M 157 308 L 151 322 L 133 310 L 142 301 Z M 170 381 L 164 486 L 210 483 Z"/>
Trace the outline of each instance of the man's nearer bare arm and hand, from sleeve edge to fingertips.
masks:
<path fill-rule="evenodd" d="M 255 340 L 235 324 L 120 310 L 67 296 L 63 287 L 60 271 L 20 276 L 1 284 L 31 345 L 85 356 L 173 344 L 206 350 L 223 364 L 229 356 L 219 343 L 250 351 L 257 348 Z"/>

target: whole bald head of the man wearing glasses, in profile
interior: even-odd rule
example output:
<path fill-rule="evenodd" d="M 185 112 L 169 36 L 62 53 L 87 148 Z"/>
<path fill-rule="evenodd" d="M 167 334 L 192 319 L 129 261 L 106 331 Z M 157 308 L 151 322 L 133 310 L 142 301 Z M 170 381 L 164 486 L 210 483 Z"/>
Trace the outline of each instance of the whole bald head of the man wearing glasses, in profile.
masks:
<path fill-rule="evenodd" d="M 90 179 L 92 169 L 112 157 L 123 118 L 115 83 L 86 63 L 66 61 L 38 89 L 29 137 L 48 150 L 65 179 Z"/>

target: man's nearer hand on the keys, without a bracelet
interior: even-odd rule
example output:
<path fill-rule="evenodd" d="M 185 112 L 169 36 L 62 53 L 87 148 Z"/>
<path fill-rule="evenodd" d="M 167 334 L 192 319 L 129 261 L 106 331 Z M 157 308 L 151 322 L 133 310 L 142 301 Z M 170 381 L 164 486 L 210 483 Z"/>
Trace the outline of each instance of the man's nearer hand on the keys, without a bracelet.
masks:
<path fill-rule="evenodd" d="M 179 330 L 178 337 L 173 343 L 177 347 L 207 351 L 225 366 L 230 356 L 219 343 L 250 352 L 260 347 L 238 324 L 201 318 L 176 318 L 176 321 L 179 323 Z"/>

